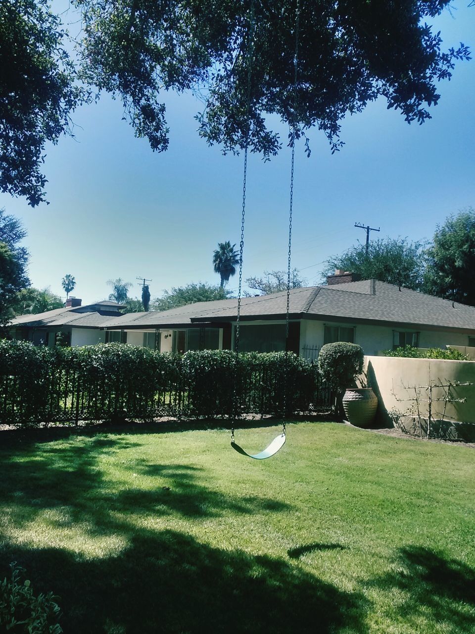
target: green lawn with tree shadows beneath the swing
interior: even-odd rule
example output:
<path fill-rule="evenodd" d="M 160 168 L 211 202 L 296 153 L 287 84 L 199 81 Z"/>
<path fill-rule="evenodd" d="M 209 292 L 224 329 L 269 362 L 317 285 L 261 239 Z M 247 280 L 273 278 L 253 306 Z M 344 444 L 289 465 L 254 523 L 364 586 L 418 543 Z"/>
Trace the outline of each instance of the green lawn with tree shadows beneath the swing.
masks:
<path fill-rule="evenodd" d="M 157 429 L 2 443 L 2 578 L 66 634 L 475 633 L 474 450 L 300 423 L 260 462 Z"/>

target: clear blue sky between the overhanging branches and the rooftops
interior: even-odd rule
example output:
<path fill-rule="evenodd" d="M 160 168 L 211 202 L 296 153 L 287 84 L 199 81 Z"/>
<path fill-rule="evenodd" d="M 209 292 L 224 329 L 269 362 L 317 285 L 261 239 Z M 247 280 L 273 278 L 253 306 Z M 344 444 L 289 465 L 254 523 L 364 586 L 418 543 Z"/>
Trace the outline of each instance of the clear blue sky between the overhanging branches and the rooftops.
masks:
<path fill-rule="evenodd" d="M 462 41 L 473 53 L 475 8 L 467 4 L 436 21 L 443 48 Z M 297 148 L 293 266 L 310 284 L 319 283 L 327 257 L 365 240 L 357 221 L 381 226 L 372 236 L 423 240 L 452 212 L 475 207 L 475 60 L 457 63 L 439 87 L 439 105 L 423 126 L 409 126 L 381 100 L 343 122 L 341 152 L 332 156 L 316 130 L 310 159 Z M 242 157 L 223 157 L 198 137 L 200 103 L 192 96 L 163 100 L 168 152 L 152 153 L 134 138 L 120 102 L 103 95 L 73 115 L 75 139 L 47 148 L 49 205 L 31 209 L 0 195 L 0 207 L 27 228 L 35 287 L 64 295 L 61 278 L 71 273 L 73 294 L 91 302 L 108 296 L 109 278 L 151 278 L 152 297 L 191 281 L 219 283 L 213 249 L 239 243 Z M 251 157 L 244 278 L 286 268 L 289 161 L 288 148 L 269 163 Z M 237 286 L 236 276 L 229 288 Z M 138 285 L 130 295 L 140 295 Z"/>

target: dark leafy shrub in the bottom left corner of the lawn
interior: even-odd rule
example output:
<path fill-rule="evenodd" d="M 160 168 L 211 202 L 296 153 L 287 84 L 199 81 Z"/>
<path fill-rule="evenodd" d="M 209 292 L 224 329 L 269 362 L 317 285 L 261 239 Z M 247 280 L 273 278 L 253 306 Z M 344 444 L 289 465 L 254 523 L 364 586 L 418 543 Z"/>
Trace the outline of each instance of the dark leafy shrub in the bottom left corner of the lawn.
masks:
<path fill-rule="evenodd" d="M 53 593 L 33 593 L 29 579 L 22 583 L 24 569 L 10 564 L 11 577 L 0 583 L 0 631 L 25 634 L 61 634 L 60 608 Z"/>

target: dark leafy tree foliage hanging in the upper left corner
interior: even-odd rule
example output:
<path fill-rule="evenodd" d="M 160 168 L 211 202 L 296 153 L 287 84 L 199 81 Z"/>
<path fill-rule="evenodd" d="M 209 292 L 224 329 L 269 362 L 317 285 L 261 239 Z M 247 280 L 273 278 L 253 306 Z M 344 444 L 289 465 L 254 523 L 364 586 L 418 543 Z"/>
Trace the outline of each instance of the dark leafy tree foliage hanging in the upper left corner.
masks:
<path fill-rule="evenodd" d="M 46 0 L 0 2 L 0 60 L 0 191 L 34 207 L 44 201 L 46 144 L 71 134 L 70 113 L 87 95 Z"/>

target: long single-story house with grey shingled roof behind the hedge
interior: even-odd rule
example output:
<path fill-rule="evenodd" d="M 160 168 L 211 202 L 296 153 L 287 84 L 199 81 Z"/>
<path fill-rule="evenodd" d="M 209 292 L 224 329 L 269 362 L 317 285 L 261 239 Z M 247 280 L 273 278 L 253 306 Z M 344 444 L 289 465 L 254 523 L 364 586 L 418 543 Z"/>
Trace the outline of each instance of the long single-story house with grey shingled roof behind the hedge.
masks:
<path fill-rule="evenodd" d="M 353 279 L 351 274 L 341 273 L 329 276 L 328 285 L 291 289 L 289 349 L 315 359 L 320 347 L 333 341 L 360 344 L 365 354 L 408 344 L 424 348 L 475 346 L 475 307 L 377 280 Z M 91 306 L 97 308 L 99 304 Z M 98 339 L 120 341 L 180 353 L 232 349 L 237 307 L 237 299 L 224 299 L 160 313 L 120 315 L 117 311 L 109 318 L 103 318 L 103 314 L 94 318 L 83 316 L 89 319 L 87 326 L 86 322 L 74 321 L 65 327 L 95 328 L 96 334 L 90 334 L 89 340 L 85 341 L 82 335 L 84 343 Z M 24 317 L 14 320 L 12 326 L 18 328 L 17 321 Z M 42 318 L 45 320 L 44 315 Z M 99 319 L 100 323 L 92 325 L 92 320 Z M 285 320 L 285 291 L 241 299 L 239 349 L 283 350 Z M 54 321 L 47 326 L 53 325 Z M 77 340 L 72 337 L 71 344 L 75 345 Z"/>

